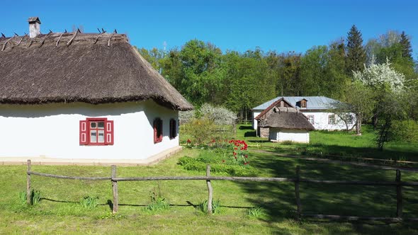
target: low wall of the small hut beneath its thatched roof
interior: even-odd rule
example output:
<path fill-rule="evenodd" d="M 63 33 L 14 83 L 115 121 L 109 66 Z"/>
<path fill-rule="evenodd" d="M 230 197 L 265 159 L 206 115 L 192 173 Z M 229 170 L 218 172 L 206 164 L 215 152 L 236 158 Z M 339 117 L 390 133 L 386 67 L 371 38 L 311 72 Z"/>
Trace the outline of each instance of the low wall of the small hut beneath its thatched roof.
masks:
<path fill-rule="evenodd" d="M 274 142 L 293 141 L 309 143 L 309 131 L 270 128 L 269 139 Z"/>

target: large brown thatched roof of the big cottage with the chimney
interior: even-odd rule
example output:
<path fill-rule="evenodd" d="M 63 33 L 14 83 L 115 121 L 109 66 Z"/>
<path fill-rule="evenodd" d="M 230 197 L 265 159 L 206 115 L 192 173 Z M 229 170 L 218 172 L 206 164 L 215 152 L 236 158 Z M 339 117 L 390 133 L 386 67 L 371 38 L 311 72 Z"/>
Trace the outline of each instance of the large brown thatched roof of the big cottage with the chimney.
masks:
<path fill-rule="evenodd" d="M 152 99 L 193 106 L 117 33 L 0 38 L 0 103 L 113 103 Z"/>

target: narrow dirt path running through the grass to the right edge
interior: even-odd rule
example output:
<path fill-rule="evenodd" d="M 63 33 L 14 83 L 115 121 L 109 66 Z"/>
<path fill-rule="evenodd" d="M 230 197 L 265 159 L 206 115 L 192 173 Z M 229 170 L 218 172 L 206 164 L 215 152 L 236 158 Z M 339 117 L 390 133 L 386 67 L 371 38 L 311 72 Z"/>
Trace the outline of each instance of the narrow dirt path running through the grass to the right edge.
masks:
<path fill-rule="evenodd" d="M 291 158 L 291 159 L 302 159 L 302 160 L 307 160 L 307 161 L 320 161 L 320 162 L 329 163 L 329 164 L 344 164 L 344 165 L 351 165 L 351 166 L 365 166 L 365 167 L 377 168 L 377 169 L 382 169 L 382 170 L 397 170 L 397 169 L 399 169 L 401 171 L 418 172 L 417 168 L 408 168 L 408 167 L 402 167 L 402 166 L 383 166 L 383 165 L 378 165 L 378 164 L 366 164 L 366 163 L 361 163 L 361 162 L 322 159 L 322 158 L 318 158 L 318 157 L 296 156 L 296 155 L 290 155 L 290 154 L 278 154 L 278 153 L 274 153 L 272 151 L 266 151 L 266 150 L 261 150 L 261 149 L 251 149 L 250 151 L 254 151 L 254 152 L 258 152 L 258 153 L 262 153 L 262 154 L 271 154 L 271 155 L 274 155 L 274 156 L 281 156 L 281 157 L 286 157 L 286 158 Z"/>

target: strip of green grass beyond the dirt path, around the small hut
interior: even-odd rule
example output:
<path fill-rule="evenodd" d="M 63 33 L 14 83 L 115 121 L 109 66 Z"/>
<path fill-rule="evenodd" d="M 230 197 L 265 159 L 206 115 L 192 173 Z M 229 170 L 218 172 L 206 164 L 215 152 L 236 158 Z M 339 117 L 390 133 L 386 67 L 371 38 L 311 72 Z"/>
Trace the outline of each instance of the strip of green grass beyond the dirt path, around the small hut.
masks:
<path fill-rule="evenodd" d="M 376 133 L 370 125 L 362 126 L 362 135 L 354 132 L 310 132 L 310 144 L 281 144 L 255 137 L 250 125 L 239 125 L 237 139 L 245 139 L 250 145 L 276 147 L 279 152 L 307 155 L 361 156 L 375 159 L 418 161 L 418 143 L 388 142 L 383 151 L 375 144 Z"/>

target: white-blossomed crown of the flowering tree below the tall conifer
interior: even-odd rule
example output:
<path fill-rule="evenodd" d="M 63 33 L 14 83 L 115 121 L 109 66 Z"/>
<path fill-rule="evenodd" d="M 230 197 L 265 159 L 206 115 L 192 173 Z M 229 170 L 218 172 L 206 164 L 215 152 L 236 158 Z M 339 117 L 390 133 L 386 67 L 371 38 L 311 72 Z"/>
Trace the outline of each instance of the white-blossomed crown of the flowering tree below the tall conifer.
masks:
<path fill-rule="evenodd" d="M 386 59 L 385 64 L 372 64 L 364 66 L 364 71 L 354 71 L 354 79 L 361 81 L 366 86 L 382 88 L 389 86 L 391 91 L 399 92 L 404 88 L 405 76 L 390 68 L 390 62 Z"/>

